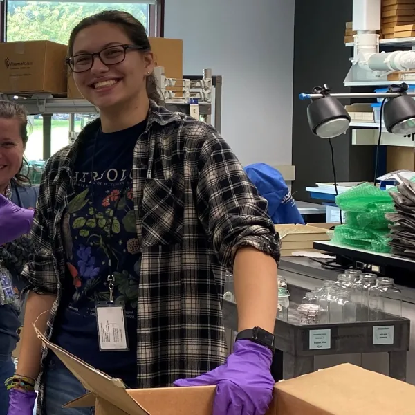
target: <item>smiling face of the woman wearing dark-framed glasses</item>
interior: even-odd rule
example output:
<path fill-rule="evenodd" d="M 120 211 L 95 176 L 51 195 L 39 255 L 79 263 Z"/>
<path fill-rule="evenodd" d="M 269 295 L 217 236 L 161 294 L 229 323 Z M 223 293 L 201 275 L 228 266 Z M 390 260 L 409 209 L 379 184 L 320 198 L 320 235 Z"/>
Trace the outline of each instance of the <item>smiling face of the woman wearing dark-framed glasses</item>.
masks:
<path fill-rule="evenodd" d="M 109 46 L 131 44 L 133 42 L 120 26 L 100 23 L 77 34 L 72 55 L 97 53 Z M 105 53 L 111 56 L 112 50 L 106 49 Z M 151 53 L 127 49 L 124 61 L 109 66 L 95 55 L 92 68 L 89 71 L 73 73 L 73 79 L 86 100 L 99 109 L 107 109 L 115 104 L 137 100 L 145 92 L 146 77 L 153 69 Z"/>

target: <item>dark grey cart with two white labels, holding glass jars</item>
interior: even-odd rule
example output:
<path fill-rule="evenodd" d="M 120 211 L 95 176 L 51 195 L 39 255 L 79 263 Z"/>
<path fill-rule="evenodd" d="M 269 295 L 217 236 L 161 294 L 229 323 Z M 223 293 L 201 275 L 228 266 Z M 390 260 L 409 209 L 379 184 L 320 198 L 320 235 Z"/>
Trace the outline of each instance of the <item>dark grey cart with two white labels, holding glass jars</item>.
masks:
<path fill-rule="evenodd" d="M 295 313 L 306 288 L 288 285 Z M 385 320 L 341 324 L 301 325 L 292 320 L 275 321 L 276 347 L 281 357 L 282 378 L 290 379 L 314 371 L 314 356 L 351 353 L 389 353 L 389 376 L 406 380 L 407 351 L 409 350 L 410 320 L 395 315 L 385 315 Z M 237 331 L 237 306 L 223 300 L 225 327 Z M 380 338 L 380 331 L 392 333 L 389 340 Z"/>

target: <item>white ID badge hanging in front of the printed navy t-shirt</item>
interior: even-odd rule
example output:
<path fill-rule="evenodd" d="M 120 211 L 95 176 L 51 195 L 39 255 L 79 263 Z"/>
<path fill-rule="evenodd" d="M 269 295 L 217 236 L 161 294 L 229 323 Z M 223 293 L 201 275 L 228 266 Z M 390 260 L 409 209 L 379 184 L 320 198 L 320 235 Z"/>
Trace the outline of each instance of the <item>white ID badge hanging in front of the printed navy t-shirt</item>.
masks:
<path fill-rule="evenodd" d="M 97 302 L 95 312 L 100 351 L 129 351 L 124 303 Z"/>

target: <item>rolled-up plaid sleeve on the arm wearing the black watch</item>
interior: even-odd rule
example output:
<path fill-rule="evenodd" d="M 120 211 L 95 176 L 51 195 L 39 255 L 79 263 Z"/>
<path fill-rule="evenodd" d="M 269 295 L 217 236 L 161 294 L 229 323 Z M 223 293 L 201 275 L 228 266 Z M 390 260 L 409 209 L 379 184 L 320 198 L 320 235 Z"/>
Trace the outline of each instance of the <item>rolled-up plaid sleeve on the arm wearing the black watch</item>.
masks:
<path fill-rule="evenodd" d="M 232 149 L 214 133 L 201 149 L 196 199 L 199 220 L 223 266 L 232 270 L 234 256 L 243 246 L 279 262 L 281 241 L 268 216 L 267 201 L 259 196 Z"/>

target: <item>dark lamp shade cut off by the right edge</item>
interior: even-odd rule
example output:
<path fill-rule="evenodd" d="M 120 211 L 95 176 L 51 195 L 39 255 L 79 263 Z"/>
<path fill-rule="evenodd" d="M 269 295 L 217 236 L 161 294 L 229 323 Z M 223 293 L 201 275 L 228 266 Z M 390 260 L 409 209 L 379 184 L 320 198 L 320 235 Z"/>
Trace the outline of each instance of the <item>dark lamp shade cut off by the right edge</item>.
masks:
<path fill-rule="evenodd" d="M 404 136 L 415 133 L 415 100 L 405 93 L 385 102 L 385 127 L 389 133 Z"/>

